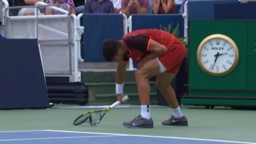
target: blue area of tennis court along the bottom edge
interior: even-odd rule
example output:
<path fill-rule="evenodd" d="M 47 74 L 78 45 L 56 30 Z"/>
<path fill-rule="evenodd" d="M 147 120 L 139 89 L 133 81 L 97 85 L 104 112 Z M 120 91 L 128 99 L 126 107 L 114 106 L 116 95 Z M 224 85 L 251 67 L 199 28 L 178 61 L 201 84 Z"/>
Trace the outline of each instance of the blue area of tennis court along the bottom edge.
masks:
<path fill-rule="evenodd" d="M 246 143 L 241 141 L 221 141 L 214 139 L 191 139 L 182 137 L 158 137 L 148 135 L 104 134 L 89 132 L 72 132 L 56 130 L 29 130 L 0 132 L 0 143 L 4 144 L 50 144 L 50 143 L 204 143 L 204 144 L 230 144 Z"/>

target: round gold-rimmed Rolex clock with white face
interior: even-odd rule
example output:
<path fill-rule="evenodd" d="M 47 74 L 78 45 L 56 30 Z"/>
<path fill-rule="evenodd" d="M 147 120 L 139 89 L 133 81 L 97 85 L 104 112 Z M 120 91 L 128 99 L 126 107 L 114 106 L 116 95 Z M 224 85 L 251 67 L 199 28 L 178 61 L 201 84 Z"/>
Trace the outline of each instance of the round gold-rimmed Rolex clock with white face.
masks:
<path fill-rule="evenodd" d="M 221 76 L 230 73 L 236 67 L 238 57 L 236 43 L 226 35 L 210 35 L 198 46 L 198 63 L 203 71 L 210 75 Z"/>

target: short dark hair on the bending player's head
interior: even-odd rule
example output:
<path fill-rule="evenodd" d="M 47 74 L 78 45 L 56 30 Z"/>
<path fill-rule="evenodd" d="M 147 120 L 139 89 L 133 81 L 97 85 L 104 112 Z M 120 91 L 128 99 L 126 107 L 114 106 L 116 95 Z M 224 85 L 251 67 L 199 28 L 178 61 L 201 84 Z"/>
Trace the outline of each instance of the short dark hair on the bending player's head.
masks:
<path fill-rule="evenodd" d="M 102 45 L 102 54 L 106 61 L 111 62 L 117 54 L 118 48 L 121 47 L 121 43 L 114 39 L 108 39 L 104 41 Z"/>

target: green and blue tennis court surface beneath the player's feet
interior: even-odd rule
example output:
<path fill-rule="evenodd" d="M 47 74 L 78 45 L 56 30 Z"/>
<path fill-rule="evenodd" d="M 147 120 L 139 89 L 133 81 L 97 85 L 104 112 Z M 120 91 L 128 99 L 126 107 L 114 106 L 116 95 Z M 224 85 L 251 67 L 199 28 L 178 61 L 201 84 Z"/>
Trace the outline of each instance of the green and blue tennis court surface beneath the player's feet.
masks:
<path fill-rule="evenodd" d="M 131 129 L 122 126 L 140 113 L 139 107 L 117 107 L 100 124 L 72 122 L 84 111 L 79 106 L 54 105 L 51 109 L 0 110 L 0 144 L 49 143 L 256 143 L 255 110 L 228 107 L 181 106 L 188 126 L 163 126 L 170 117 L 169 107 L 151 107 L 154 128 Z"/>

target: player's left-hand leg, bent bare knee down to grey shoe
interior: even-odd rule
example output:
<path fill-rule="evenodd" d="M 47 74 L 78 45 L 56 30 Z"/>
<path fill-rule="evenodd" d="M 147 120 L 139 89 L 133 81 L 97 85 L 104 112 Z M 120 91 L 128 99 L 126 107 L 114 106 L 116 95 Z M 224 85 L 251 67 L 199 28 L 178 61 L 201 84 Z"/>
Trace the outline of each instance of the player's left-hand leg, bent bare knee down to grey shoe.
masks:
<path fill-rule="evenodd" d="M 154 122 L 150 117 L 150 77 L 160 73 L 158 60 L 149 60 L 135 73 L 140 99 L 140 115 L 130 122 L 123 122 L 128 128 L 153 128 Z"/>

